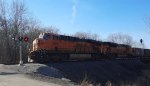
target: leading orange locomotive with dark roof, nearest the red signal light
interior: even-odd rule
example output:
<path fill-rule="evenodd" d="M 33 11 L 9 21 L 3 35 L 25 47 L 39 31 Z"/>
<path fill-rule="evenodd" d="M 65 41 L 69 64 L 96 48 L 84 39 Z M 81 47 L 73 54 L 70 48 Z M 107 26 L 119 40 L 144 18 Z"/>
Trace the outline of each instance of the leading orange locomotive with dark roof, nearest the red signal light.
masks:
<path fill-rule="evenodd" d="M 33 41 L 29 62 L 95 59 L 102 52 L 101 46 L 95 40 L 42 33 Z"/>

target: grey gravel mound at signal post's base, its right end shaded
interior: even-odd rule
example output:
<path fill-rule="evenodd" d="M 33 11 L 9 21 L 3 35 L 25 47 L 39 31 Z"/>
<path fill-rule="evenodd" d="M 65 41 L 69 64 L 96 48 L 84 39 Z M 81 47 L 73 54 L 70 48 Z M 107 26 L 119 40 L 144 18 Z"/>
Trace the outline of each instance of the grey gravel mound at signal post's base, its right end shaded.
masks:
<path fill-rule="evenodd" d="M 58 69 L 48 67 L 44 64 L 24 64 L 23 66 L 18 65 L 7 65 L 7 69 L 14 70 L 18 73 L 38 73 L 46 76 L 63 78 L 63 75 Z"/>

